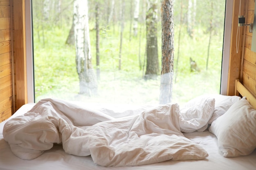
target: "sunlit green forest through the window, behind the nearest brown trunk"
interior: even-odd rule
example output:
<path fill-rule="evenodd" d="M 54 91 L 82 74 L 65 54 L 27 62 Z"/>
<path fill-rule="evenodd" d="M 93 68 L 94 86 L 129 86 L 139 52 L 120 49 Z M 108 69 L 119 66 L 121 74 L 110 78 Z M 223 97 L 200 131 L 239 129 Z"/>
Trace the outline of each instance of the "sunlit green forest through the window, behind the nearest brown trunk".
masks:
<path fill-rule="evenodd" d="M 171 102 L 219 94 L 225 0 L 168 1 L 173 4 L 174 21 Z M 32 0 L 36 102 L 56 97 L 158 104 L 166 36 L 162 35 L 162 2 Z M 87 18 L 88 24 L 81 18 Z M 78 61 L 79 49 L 87 50 L 82 52 L 86 60 Z M 86 76 L 81 77 L 79 70 Z M 90 82 L 89 91 L 81 88 L 81 79 Z"/>

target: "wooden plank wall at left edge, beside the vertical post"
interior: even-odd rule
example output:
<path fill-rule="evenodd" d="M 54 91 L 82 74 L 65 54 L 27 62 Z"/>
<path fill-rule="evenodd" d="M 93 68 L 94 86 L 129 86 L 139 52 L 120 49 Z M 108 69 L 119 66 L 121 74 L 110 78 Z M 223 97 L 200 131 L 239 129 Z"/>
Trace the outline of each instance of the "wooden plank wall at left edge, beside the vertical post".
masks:
<path fill-rule="evenodd" d="M 10 1 L 0 0 L 0 122 L 13 113 Z"/>

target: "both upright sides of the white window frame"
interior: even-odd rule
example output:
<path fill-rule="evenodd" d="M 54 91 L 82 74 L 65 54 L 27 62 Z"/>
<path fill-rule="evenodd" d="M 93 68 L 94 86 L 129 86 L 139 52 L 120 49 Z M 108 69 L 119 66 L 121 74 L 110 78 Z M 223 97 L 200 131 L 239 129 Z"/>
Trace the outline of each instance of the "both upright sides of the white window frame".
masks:
<path fill-rule="evenodd" d="M 25 22 L 26 22 L 26 60 L 27 60 L 27 97 L 28 102 L 34 100 L 34 61 L 33 61 L 33 37 L 32 37 L 32 13 L 31 0 L 25 0 Z M 231 42 L 231 27 L 233 15 L 233 0 L 226 0 L 225 28 L 222 54 L 222 71 L 220 94 L 227 95 L 227 80 L 229 72 L 229 53 Z"/>

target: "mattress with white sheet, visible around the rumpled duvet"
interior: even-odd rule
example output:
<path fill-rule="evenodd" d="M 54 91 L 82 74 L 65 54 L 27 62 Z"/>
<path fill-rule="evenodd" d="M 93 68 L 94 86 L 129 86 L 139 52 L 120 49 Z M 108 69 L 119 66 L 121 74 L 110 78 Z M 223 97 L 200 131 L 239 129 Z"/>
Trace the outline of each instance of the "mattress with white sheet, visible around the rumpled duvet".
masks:
<path fill-rule="evenodd" d="M 33 106 L 34 104 L 22 106 L 12 117 L 26 113 Z M 79 157 L 65 153 L 62 145 L 54 145 L 36 159 L 22 160 L 13 155 L 9 144 L 3 139 L 2 130 L 6 121 L 0 123 L 0 170 L 255 170 L 256 167 L 256 150 L 243 157 L 223 157 L 218 149 L 216 136 L 208 130 L 184 133 L 185 137 L 200 144 L 208 152 L 209 156 L 202 160 L 170 160 L 143 166 L 103 167 L 95 164 L 90 156 Z"/>

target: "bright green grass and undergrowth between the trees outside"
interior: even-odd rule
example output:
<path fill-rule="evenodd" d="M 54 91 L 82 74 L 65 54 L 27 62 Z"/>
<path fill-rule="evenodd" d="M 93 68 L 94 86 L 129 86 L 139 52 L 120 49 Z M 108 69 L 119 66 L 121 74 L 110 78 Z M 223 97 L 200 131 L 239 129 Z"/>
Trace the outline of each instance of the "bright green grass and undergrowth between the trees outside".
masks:
<path fill-rule="evenodd" d="M 126 23 L 128 24 L 128 23 Z M 83 100 L 85 102 L 113 102 L 126 104 L 158 104 L 160 75 L 155 80 L 144 80 L 146 66 L 139 67 L 139 36 L 129 40 L 129 26 L 125 26 L 122 46 L 121 70 L 118 69 L 120 35 L 118 28 L 101 32 L 99 95 L 79 95 L 79 78 L 76 73 L 75 47 L 65 44 L 68 28 L 52 27 L 43 33 L 34 31 L 34 68 L 36 102 L 42 98 Z M 178 26 L 175 26 L 175 68 L 177 60 Z M 144 27 L 143 27 L 144 29 Z M 40 40 L 37 35 L 40 35 Z M 140 55 L 144 63 L 146 38 L 141 33 Z M 92 62 L 96 68 L 95 31 L 90 32 Z M 173 102 L 180 104 L 205 93 L 220 92 L 223 35 L 213 35 L 209 66 L 206 71 L 209 34 L 195 30 L 192 39 L 182 30 L 177 81 L 173 81 Z M 161 68 L 161 29 L 158 35 L 159 64 Z M 195 60 L 200 72 L 190 72 L 189 57 Z M 96 72 L 95 72 L 96 73 Z M 160 73 L 160 71 L 159 71 Z"/>

